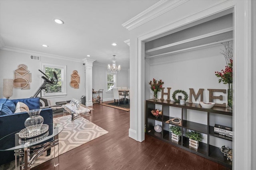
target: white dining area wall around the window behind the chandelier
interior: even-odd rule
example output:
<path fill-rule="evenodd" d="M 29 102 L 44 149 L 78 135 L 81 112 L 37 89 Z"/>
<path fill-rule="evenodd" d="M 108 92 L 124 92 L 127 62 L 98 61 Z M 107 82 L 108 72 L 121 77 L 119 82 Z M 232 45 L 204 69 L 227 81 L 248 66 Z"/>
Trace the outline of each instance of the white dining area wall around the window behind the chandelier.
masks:
<path fill-rule="evenodd" d="M 103 102 L 114 100 L 113 92 L 107 92 L 107 65 L 93 63 L 92 67 L 92 88 L 94 91 L 103 89 Z M 122 69 L 116 74 L 116 87 L 129 87 L 129 70 Z"/>

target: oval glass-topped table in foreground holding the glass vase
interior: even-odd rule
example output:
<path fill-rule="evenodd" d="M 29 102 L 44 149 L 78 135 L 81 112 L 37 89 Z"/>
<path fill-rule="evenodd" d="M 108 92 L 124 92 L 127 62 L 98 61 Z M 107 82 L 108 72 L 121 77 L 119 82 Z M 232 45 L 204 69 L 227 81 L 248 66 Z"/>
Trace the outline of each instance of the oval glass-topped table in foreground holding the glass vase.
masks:
<path fill-rule="evenodd" d="M 37 135 L 35 137 L 22 137 L 22 133 L 20 132 L 24 131 L 24 129 L 21 129 L 20 131 L 16 131 L 0 139 L 0 151 L 14 150 L 16 164 L 15 168 L 17 169 L 18 156 L 20 170 L 30 170 L 33 162 L 36 160 L 36 158 L 38 158 L 38 156 L 40 156 L 46 150 L 54 147 L 54 166 L 57 166 L 59 164 L 58 134 L 62 130 L 62 125 L 58 123 L 53 123 L 48 124 L 48 131 L 41 135 Z M 55 146 L 58 147 L 57 156 Z M 33 153 L 31 157 L 30 153 Z"/>

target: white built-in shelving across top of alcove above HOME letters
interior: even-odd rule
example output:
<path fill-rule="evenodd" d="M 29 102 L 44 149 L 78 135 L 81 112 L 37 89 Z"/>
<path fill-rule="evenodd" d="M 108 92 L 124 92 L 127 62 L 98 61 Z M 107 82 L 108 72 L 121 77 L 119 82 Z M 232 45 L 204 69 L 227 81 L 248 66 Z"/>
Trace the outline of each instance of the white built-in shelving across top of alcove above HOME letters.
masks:
<path fill-rule="evenodd" d="M 216 25 L 212 27 L 212 25 Z M 232 14 L 145 43 L 146 59 L 205 49 L 233 39 Z"/>

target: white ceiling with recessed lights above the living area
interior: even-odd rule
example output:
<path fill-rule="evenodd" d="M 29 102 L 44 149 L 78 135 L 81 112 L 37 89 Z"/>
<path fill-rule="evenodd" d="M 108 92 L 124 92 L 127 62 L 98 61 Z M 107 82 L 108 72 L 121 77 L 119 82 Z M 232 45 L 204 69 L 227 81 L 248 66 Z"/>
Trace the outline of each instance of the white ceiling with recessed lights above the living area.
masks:
<path fill-rule="evenodd" d="M 111 64 L 116 55 L 116 63 L 129 68 L 129 46 L 124 43 L 129 31 L 122 24 L 158 1 L 0 0 L 1 49 L 88 58 L 102 64 Z M 112 46 L 113 42 L 118 45 Z"/>

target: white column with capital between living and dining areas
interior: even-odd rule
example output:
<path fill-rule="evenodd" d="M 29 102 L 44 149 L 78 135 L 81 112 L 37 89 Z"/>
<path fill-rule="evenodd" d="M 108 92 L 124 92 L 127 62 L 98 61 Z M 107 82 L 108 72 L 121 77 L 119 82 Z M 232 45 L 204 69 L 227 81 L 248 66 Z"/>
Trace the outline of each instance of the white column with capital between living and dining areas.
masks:
<path fill-rule="evenodd" d="M 92 63 L 95 60 L 83 59 L 85 64 L 85 95 L 86 106 L 92 106 Z"/>

